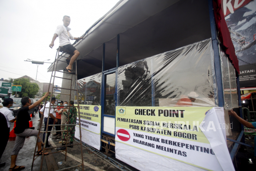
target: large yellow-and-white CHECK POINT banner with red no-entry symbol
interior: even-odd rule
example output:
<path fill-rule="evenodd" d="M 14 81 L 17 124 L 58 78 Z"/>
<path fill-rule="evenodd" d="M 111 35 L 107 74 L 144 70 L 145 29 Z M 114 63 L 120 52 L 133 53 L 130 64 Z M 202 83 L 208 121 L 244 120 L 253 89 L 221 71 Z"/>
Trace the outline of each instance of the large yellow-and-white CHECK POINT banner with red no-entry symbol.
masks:
<path fill-rule="evenodd" d="M 223 108 L 117 109 L 116 158 L 136 169 L 164 170 L 169 164 L 173 170 L 234 170 L 219 126 L 225 123 Z"/>

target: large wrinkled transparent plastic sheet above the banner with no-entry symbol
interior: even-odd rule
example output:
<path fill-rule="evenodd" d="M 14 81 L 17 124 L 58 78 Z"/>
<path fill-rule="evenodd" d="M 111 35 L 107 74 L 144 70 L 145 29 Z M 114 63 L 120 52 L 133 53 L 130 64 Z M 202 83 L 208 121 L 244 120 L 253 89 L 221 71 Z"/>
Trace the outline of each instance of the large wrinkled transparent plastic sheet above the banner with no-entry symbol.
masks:
<path fill-rule="evenodd" d="M 118 106 L 218 106 L 212 40 L 121 66 L 117 86 Z"/>

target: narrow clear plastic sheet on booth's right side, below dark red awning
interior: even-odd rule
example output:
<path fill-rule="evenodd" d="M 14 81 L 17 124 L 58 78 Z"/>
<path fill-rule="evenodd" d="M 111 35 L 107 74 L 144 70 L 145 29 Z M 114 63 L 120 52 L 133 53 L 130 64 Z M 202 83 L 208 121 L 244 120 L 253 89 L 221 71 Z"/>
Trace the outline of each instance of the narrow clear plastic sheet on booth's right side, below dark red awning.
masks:
<path fill-rule="evenodd" d="M 236 72 L 226 54 L 220 48 L 221 73 L 224 93 L 224 109 L 238 108 Z"/>

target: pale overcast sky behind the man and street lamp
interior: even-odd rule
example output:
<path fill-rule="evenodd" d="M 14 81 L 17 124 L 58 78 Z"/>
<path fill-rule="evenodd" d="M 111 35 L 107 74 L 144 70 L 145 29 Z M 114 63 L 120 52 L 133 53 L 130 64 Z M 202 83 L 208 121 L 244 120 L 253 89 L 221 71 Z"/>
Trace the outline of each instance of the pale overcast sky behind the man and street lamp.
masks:
<path fill-rule="evenodd" d="M 36 78 L 37 65 L 25 62 L 51 59 L 53 62 L 59 39 L 49 47 L 53 34 L 62 18 L 71 18 L 70 32 L 79 37 L 105 15 L 119 0 L 1 0 L 0 1 L 0 78 L 19 78 L 27 75 Z M 71 41 L 73 43 L 74 41 Z M 49 82 L 47 73 L 50 63 L 39 65 L 37 80 Z M 8 72 L 6 72 L 8 71 Z M 56 76 L 62 76 L 58 73 Z M 62 79 L 56 78 L 55 85 L 61 86 Z"/>

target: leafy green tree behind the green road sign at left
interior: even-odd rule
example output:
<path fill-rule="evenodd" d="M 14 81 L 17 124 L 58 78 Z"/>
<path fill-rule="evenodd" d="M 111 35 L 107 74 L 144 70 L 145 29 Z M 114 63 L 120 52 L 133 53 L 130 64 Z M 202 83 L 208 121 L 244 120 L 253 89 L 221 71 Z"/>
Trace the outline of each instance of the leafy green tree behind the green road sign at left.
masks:
<path fill-rule="evenodd" d="M 27 78 L 20 78 L 16 79 L 13 82 L 14 85 L 21 85 L 21 92 L 17 92 L 19 94 L 19 97 L 29 97 L 29 98 L 35 98 L 36 93 L 39 90 L 39 86 L 36 83 L 29 82 L 29 79 Z M 14 95 L 16 92 L 12 92 Z"/>

